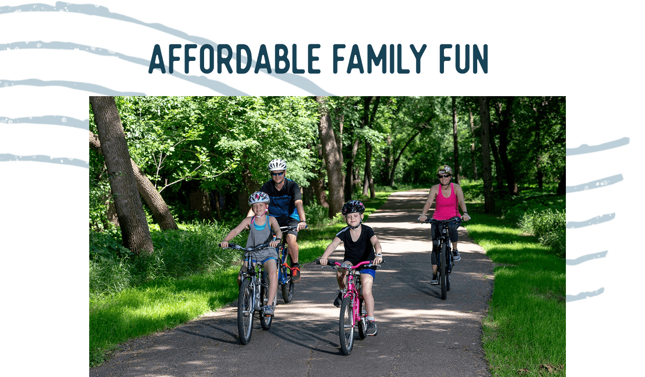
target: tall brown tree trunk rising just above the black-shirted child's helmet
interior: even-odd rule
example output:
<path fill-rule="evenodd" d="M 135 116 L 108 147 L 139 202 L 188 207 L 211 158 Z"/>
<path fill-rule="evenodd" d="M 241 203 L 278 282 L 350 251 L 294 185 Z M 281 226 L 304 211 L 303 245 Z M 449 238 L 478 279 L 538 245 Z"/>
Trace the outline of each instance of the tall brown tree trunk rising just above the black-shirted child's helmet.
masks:
<path fill-rule="evenodd" d="M 325 106 L 325 97 L 316 96 L 319 103 L 321 119 L 318 124 L 318 132 L 323 146 L 325 166 L 327 168 L 327 182 L 329 189 L 329 218 L 333 218 L 342 209 L 342 164 L 339 156 L 339 149 L 336 145 L 336 138 L 333 133 L 332 119 L 329 109 Z"/>

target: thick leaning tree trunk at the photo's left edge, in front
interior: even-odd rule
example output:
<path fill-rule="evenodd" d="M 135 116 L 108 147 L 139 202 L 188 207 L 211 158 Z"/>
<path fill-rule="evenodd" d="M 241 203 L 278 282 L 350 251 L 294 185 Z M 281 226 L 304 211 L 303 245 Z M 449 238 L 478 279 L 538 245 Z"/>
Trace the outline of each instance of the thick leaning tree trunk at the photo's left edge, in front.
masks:
<path fill-rule="evenodd" d="M 110 188 L 114 194 L 114 205 L 121 224 L 123 246 L 137 255 L 150 255 L 154 246 L 141 198 L 137 193 L 128 143 L 114 97 L 90 96 L 90 104 L 99 131 L 105 165 L 108 168 Z"/>

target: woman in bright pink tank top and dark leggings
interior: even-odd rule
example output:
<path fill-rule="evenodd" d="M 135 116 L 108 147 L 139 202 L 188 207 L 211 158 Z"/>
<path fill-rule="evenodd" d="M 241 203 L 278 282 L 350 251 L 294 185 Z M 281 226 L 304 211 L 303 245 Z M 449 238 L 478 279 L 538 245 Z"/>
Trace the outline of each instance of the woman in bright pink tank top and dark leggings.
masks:
<path fill-rule="evenodd" d="M 428 200 L 423 206 L 421 215 L 419 216 L 420 221 L 426 220 L 426 212 L 432 206 L 432 202 L 437 200 L 437 205 L 435 206 L 435 211 L 432 214 L 432 218 L 437 220 L 448 220 L 452 217 L 461 217 L 459 215 L 459 207 L 461 207 L 462 212 L 464 213 L 464 221 L 470 220 L 470 215 L 466 211 L 466 202 L 464 201 L 464 193 L 461 190 L 461 186 L 458 184 L 453 184 L 450 182 L 452 180 L 452 168 L 447 165 L 439 166 L 437 169 L 437 179 L 439 179 L 439 184 L 435 184 L 430 188 L 430 193 L 428 193 Z M 457 226 L 455 224 L 450 224 L 448 226 L 448 233 L 450 235 L 450 243 L 452 244 L 452 255 L 453 260 L 461 260 L 461 256 L 457 251 Z M 432 226 L 432 280 L 430 284 L 436 285 L 439 284 L 437 280 L 437 249 L 439 249 L 439 229 L 437 226 Z"/>

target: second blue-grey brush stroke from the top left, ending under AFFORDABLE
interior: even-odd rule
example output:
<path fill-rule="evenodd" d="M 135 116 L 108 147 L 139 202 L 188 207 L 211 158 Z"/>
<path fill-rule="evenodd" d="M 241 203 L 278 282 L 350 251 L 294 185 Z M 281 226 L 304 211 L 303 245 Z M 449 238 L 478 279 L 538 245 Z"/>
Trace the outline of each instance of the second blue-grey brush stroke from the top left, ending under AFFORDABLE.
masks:
<path fill-rule="evenodd" d="M 143 59 L 141 57 L 125 55 L 124 53 L 108 50 L 107 48 L 88 46 L 86 44 L 80 44 L 80 43 L 74 43 L 74 42 L 21 41 L 21 42 L 11 42 L 11 43 L 0 43 L 0 52 L 6 51 L 6 50 L 68 50 L 68 51 L 78 50 L 82 52 L 92 53 L 93 55 L 115 57 L 117 59 L 121 59 L 128 63 L 134 63 L 140 66 L 144 66 L 146 68 L 150 66 L 150 61 Z M 159 68 L 155 68 L 155 69 L 161 72 Z M 167 65 L 166 65 L 166 72 L 169 72 Z M 173 73 L 167 73 L 167 74 L 173 77 L 177 77 L 177 79 L 192 82 L 195 85 L 203 86 L 204 88 L 208 88 L 210 90 L 213 90 L 213 92 L 217 92 L 222 95 L 248 95 L 247 93 L 244 93 L 241 90 L 237 90 L 232 86 L 225 84 L 224 82 L 209 79 L 206 76 L 184 75 L 184 73 L 181 73 L 177 70 L 174 70 Z"/>

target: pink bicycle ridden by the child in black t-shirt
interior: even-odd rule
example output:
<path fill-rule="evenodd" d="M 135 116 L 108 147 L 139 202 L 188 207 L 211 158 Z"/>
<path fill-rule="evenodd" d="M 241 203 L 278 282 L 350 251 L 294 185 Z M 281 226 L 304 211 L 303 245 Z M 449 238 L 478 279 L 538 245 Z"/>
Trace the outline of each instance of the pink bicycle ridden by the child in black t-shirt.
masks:
<path fill-rule="evenodd" d="M 382 262 L 381 262 L 382 263 Z M 316 261 L 320 264 L 320 261 Z M 336 262 L 335 260 L 327 260 L 327 266 L 332 269 L 344 269 L 348 271 L 347 284 L 342 293 L 341 316 L 339 318 L 339 335 L 341 337 L 341 349 L 343 354 L 352 353 L 354 345 L 354 328 L 358 327 L 359 337 L 364 339 L 366 329 L 366 316 L 365 300 L 362 297 L 361 287 L 361 273 L 360 269 L 380 266 L 379 264 L 372 264 L 371 260 L 360 262 L 356 266 Z"/>

